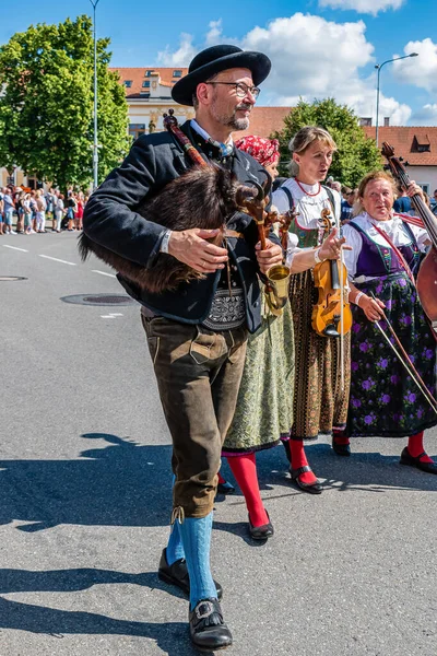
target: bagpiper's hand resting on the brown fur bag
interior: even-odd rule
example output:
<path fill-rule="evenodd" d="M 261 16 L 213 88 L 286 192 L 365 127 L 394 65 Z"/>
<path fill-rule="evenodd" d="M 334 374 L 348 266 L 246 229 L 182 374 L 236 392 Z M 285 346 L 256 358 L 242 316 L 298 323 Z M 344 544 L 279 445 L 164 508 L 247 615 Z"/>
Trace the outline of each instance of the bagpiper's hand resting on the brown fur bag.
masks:
<path fill-rule="evenodd" d="M 180 262 L 188 265 L 200 273 L 214 273 L 224 268 L 227 261 L 226 248 L 214 246 L 205 239 L 216 237 L 220 230 L 191 230 L 172 231 L 168 241 L 168 254 Z"/>

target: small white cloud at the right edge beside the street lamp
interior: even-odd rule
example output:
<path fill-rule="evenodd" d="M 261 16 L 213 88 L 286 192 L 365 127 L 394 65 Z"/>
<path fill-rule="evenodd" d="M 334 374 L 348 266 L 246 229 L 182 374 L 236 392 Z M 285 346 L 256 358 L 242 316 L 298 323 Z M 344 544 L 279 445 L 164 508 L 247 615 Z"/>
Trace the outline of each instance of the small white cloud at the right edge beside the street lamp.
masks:
<path fill-rule="evenodd" d="M 430 38 L 409 42 L 404 54 L 417 52 L 418 57 L 393 61 L 393 73 L 398 81 L 437 92 L 437 44 Z M 395 55 L 393 55 L 395 57 Z"/>

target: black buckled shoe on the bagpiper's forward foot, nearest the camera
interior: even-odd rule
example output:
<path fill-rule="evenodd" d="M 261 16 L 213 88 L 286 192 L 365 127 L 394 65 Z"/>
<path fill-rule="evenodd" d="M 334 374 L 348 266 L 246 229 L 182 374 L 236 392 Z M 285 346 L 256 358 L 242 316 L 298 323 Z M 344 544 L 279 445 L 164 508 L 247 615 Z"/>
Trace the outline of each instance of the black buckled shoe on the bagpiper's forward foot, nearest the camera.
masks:
<path fill-rule="evenodd" d="M 217 599 L 201 599 L 188 618 L 191 642 L 200 652 L 215 652 L 232 645 L 232 633 L 223 621 Z"/>

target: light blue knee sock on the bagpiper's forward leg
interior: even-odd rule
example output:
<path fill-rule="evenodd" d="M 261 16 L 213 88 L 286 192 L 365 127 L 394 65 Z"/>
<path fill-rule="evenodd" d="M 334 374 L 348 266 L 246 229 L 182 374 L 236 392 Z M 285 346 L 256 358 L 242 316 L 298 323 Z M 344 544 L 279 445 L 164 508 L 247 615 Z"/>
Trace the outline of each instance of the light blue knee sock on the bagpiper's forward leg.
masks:
<path fill-rule="evenodd" d="M 216 599 L 217 590 L 210 566 L 212 513 L 206 517 L 187 517 L 179 525 L 190 577 L 190 609 L 201 599 Z"/>

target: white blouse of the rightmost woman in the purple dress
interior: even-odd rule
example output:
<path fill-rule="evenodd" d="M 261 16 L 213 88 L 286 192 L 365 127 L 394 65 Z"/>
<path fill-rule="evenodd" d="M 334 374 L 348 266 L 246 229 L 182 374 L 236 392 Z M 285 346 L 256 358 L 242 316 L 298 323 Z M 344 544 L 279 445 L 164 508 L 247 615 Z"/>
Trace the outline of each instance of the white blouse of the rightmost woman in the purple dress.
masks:
<path fill-rule="evenodd" d="M 376 244 L 379 246 L 389 246 L 387 239 L 383 238 L 382 235 L 378 233 L 375 225 L 387 233 L 389 239 L 394 244 L 394 246 L 408 246 L 411 244 L 411 237 L 406 232 L 404 222 L 398 214 L 393 214 L 392 219 L 389 221 L 377 221 L 369 216 L 367 212 L 362 212 L 357 216 L 354 216 L 352 220 L 356 223 Z M 429 239 L 428 233 L 424 227 L 417 227 L 416 225 L 411 225 L 412 233 L 414 234 L 417 246 L 421 250 L 425 250 L 425 242 Z M 343 226 L 343 236 L 346 239 L 346 244 L 352 246 L 353 250 L 344 250 L 344 263 L 346 265 L 350 280 L 353 280 L 356 273 L 356 265 L 358 261 L 359 254 L 363 248 L 363 237 L 357 230 L 352 227 L 349 223 Z M 362 278 L 364 280 L 362 280 Z M 365 282 L 365 280 L 371 280 L 373 276 L 363 276 L 359 277 L 358 282 Z"/>

